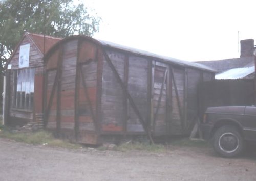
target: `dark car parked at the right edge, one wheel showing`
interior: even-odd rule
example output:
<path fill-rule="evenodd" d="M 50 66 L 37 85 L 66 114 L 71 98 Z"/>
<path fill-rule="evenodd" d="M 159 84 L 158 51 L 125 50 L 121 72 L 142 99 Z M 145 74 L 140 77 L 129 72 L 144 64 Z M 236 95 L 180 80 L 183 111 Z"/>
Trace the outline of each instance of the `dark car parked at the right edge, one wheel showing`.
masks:
<path fill-rule="evenodd" d="M 209 107 L 200 124 L 203 138 L 224 157 L 241 154 L 245 142 L 256 142 L 256 107 Z"/>

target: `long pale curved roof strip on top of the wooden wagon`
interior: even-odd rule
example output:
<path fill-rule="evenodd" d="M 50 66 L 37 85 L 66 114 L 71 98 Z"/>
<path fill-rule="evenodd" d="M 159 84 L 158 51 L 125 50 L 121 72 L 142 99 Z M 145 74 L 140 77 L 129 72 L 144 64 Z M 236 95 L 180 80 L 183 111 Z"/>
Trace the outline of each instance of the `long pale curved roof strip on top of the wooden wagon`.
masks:
<path fill-rule="evenodd" d="M 119 44 L 112 43 L 112 42 L 109 42 L 109 41 L 103 41 L 103 40 L 98 40 L 98 41 L 104 46 L 113 47 L 113 48 L 121 49 L 121 50 L 124 50 L 124 51 L 130 51 L 132 53 L 139 54 L 139 55 L 142 55 L 142 56 L 155 57 L 155 58 L 158 58 L 158 59 L 162 59 L 164 61 L 173 62 L 173 63 L 181 65 L 181 66 L 189 66 L 189 67 L 204 69 L 204 70 L 211 71 L 211 72 L 216 72 L 215 69 L 212 69 L 212 68 L 210 68 L 206 65 L 203 65 L 203 64 L 184 61 L 184 60 L 179 60 L 179 59 L 172 58 L 172 57 L 167 57 L 167 56 L 161 56 L 161 55 L 157 55 L 157 54 L 154 54 L 154 53 L 150 53 L 150 52 L 145 51 L 145 50 L 140 50 L 140 49 L 136 49 L 136 48 L 127 47 L 127 46 L 119 45 Z"/>

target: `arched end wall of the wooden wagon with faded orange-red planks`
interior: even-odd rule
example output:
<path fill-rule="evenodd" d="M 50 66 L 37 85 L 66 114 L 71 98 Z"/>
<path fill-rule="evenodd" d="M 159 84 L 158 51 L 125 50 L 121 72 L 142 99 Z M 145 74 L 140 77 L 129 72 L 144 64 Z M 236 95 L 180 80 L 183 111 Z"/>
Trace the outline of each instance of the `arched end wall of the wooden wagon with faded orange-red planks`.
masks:
<path fill-rule="evenodd" d="M 48 58 L 46 65 L 46 110 L 50 110 L 47 128 L 56 130 L 62 138 L 96 143 L 92 138 L 95 135 L 87 132 L 96 131 L 97 47 L 78 40 L 62 47 Z M 59 88 L 53 90 L 56 76 Z"/>

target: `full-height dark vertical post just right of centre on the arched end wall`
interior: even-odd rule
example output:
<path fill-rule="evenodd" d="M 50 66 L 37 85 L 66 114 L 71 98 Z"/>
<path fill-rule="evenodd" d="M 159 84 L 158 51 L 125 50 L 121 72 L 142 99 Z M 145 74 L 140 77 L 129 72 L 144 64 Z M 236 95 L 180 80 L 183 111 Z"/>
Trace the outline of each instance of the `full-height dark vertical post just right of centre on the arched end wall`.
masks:
<path fill-rule="evenodd" d="M 79 137 L 79 115 L 78 115 L 78 107 L 79 107 L 79 89 L 80 89 L 80 64 L 79 64 L 79 55 L 81 49 L 81 40 L 78 39 L 77 42 L 77 54 L 76 54 L 76 76 L 75 76 L 75 98 L 74 98 L 74 121 L 75 121 L 75 139 L 78 141 Z"/>

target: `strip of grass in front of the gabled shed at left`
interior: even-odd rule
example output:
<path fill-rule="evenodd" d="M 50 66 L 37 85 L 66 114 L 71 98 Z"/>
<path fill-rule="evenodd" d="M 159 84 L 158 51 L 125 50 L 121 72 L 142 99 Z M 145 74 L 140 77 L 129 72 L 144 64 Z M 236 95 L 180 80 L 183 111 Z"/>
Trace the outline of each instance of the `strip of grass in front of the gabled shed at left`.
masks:
<path fill-rule="evenodd" d="M 77 149 L 80 147 L 78 144 L 69 143 L 60 139 L 56 139 L 53 135 L 46 131 L 38 132 L 12 132 L 4 128 L 0 131 L 0 137 L 12 139 L 18 142 L 24 142 L 33 145 L 46 145 L 53 147 L 62 147 L 69 149 Z"/>

